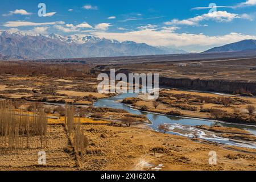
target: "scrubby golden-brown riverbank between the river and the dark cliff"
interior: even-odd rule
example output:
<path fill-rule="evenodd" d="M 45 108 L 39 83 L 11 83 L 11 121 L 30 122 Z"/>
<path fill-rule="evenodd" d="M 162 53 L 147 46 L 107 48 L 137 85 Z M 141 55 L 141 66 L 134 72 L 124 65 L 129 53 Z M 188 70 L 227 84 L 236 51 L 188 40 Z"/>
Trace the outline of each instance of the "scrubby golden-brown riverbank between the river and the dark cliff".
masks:
<path fill-rule="evenodd" d="M 143 95 L 139 95 L 137 98 L 125 98 L 122 102 L 131 105 L 134 109 L 151 113 L 202 119 L 219 119 L 218 116 L 222 113 L 236 113 L 250 117 L 251 121 L 255 120 L 256 123 L 256 110 L 249 114 L 247 109 L 250 105 L 256 106 L 254 97 L 221 96 L 213 93 L 162 89 L 156 101 L 146 100 Z M 253 122 L 246 124 L 253 124 Z"/>

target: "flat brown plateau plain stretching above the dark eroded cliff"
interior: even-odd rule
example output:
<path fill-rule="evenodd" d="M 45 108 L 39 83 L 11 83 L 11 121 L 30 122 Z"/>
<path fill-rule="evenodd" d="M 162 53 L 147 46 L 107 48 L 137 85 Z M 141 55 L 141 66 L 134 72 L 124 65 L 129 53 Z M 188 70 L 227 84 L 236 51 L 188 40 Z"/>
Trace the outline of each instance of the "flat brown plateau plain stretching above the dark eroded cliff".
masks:
<path fill-rule="evenodd" d="M 150 62 L 140 60 L 136 63 L 106 64 L 110 68 L 124 69 L 132 73 L 159 73 L 159 76 L 172 78 L 204 78 L 205 80 L 243 80 L 256 81 L 256 58 Z"/>

